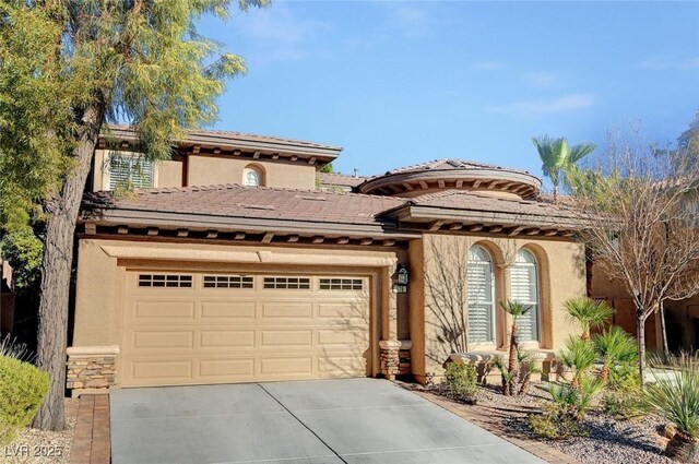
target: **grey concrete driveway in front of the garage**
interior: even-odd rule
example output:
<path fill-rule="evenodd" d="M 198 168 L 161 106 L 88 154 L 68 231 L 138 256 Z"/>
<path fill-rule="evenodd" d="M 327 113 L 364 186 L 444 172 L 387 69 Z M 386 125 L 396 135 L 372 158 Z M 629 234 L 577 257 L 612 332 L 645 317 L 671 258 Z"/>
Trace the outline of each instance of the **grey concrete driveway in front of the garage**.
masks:
<path fill-rule="evenodd" d="M 110 392 L 114 464 L 543 463 L 386 380 Z"/>

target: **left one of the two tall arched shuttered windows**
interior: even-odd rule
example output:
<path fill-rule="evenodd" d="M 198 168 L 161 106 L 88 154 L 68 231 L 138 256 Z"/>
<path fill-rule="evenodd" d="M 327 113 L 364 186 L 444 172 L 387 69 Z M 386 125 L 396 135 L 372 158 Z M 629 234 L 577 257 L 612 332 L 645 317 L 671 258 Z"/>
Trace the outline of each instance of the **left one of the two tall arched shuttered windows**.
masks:
<path fill-rule="evenodd" d="M 466 270 L 469 287 L 469 342 L 495 342 L 495 274 L 490 253 L 471 247 Z"/>

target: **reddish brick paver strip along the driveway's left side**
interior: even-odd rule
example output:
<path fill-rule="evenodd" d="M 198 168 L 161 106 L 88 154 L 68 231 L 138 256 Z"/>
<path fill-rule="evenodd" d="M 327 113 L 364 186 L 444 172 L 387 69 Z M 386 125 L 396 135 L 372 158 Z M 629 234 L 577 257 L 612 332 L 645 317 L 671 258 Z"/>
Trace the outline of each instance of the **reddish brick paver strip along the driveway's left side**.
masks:
<path fill-rule="evenodd" d="M 75 419 L 71 464 L 109 464 L 109 395 L 81 395 Z"/>

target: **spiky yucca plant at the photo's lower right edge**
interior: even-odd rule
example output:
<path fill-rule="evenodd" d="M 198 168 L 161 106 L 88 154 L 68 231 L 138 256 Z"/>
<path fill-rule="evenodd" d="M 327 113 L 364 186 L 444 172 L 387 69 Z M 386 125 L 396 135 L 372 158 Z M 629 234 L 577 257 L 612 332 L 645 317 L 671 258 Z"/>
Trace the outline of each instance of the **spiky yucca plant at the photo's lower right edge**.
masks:
<path fill-rule="evenodd" d="M 699 459 L 699 358 L 682 354 L 670 360 L 670 369 L 650 369 L 654 382 L 645 386 L 648 406 L 677 427 L 665 455 L 683 462 Z M 662 366 L 660 358 L 651 366 Z"/>

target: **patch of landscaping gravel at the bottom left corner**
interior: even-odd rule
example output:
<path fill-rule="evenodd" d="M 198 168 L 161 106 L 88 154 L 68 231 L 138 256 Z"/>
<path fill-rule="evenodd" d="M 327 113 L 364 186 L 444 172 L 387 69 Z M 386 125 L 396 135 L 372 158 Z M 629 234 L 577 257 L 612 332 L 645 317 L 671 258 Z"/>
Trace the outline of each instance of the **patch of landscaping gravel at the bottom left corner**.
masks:
<path fill-rule="evenodd" d="M 7 464 L 68 464 L 78 416 L 78 400 L 66 398 L 66 429 L 59 432 L 26 429 L 14 442 L 0 448 Z"/>

